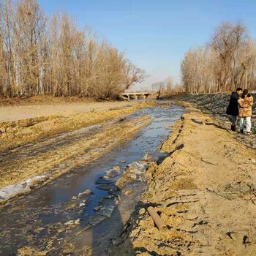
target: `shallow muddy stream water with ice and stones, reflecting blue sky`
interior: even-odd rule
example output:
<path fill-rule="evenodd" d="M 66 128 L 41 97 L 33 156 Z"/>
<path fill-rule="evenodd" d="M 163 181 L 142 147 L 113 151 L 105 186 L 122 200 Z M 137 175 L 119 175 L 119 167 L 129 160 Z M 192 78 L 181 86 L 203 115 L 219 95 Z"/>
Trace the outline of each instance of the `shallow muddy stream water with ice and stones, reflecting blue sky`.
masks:
<path fill-rule="evenodd" d="M 135 138 L 97 162 L 77 167 L 0 210 L 0 255 L 17 255 L 20 248 L 34 255 L 38 252 L 82 255 L 89 247 L 92 255 L 103 255 L 102 250 L 111 238 L 118 236 L 146 186 L 143 181 L 130 184 L 126 189 L 132 193 L 125 197 L 115 187 L 111 190 L 98 189 L 99 184 L 95 181 L 113 167 L 122 173 L 127 165 L 140 161 L 145 155 L 155 162 L 161 161 L 165 154 L 160 154 L 157 147 L 170 133 L 170 129 L 165 127 L 173 125 L 183 111 L 172 105 L 132 114 L 128 121 L 149 115 L 152 122 Z M 118 177 L 112 178 L 111 182 L 114 184 Z M 92 193 L 78 197 L 86 189 Z M 108 211 L 111 217 L 97 214 L 94 208 L 99 206 L 99 202 L 115 208 L 112 214 Z"/>

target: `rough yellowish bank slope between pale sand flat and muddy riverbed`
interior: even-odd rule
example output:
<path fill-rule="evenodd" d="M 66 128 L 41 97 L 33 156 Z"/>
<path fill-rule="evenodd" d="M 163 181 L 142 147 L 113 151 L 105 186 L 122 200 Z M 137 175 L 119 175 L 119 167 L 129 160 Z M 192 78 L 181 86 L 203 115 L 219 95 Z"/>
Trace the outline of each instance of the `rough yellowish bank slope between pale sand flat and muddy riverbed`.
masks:
<path fill-rule="evenodd" d="M 18 121 L 0 123 L 0 152 L 10 150 L 26 143 L 50 138 L 61 132 L 69 132 L 82 127 L 100 124 L 103 121 L 128 115 L 141 108 L 151 108 L 154 102 L 142 102 L 126 109 L 110 111 L 77 113 L 70 116 L 42 116 Z"/>

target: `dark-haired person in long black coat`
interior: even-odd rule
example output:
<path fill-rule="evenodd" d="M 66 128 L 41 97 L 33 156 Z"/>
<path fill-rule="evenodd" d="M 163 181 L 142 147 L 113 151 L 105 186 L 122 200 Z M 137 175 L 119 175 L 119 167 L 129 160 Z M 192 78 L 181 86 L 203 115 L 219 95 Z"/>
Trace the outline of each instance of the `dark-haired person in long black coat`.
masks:
<path fill-rule="evenodd" d="M 238 99 L 239 95 L 242 93 L 243 89 L 238 87 L 236 91 L 233 91 L 230 97 L 230 104 L 227 107 L 227 115 L 230 115 L 230 121 L 231 121 L 231 130 L 236 132 L 236 122 L 238 117 Z"/>

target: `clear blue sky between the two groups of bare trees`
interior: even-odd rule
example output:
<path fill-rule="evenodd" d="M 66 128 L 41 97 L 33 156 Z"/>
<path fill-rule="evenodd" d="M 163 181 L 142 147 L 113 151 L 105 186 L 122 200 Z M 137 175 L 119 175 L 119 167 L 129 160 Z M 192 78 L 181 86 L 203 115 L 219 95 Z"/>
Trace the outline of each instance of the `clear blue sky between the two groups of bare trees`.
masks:
<path fill-rule="evenodd" d="M 184 53 L 208 42 L 222 21 L 241 20 L 256 38 L 256 0 L 39 0 L 39 4 L 48 15 L 66 10 L 79 28 L 89 25 L 145 69 L 148 78 L 134 89 L 149 89 L 167 76 L 179 82 Z"/>

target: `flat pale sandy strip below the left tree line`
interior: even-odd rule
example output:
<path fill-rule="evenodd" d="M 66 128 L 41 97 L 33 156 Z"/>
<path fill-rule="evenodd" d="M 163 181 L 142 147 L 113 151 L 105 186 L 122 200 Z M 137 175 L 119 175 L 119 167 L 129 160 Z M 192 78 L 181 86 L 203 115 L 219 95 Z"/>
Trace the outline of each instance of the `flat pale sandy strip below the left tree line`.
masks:
<path fill-rule="evenodd" d="M 0 107 L 0 123 L 18 121 L 41 116 L 70 116 L 77 113 L 98 112 L 113 108 L 124 108 L 135 102 L 61 102 L 53 104 L 14 105 Z"/>

